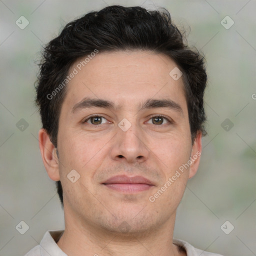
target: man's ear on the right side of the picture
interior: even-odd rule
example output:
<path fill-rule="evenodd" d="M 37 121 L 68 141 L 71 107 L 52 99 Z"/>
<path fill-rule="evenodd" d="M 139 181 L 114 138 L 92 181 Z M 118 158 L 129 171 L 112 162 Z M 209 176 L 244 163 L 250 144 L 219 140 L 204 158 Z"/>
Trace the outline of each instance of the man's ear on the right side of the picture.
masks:
<path fill-rule="evenodd" d="M 192 163 L 190 164 L 188 178 L 191 178 L 195 175 L 199 166 L 201 150 L 202 150 L 201 138 L 202 138 L 202 133 L 197 132 L 197 135 L 194 138 L 194 143 L 193 143 L 191 155 L 190 155 L 190 160 Z"/>

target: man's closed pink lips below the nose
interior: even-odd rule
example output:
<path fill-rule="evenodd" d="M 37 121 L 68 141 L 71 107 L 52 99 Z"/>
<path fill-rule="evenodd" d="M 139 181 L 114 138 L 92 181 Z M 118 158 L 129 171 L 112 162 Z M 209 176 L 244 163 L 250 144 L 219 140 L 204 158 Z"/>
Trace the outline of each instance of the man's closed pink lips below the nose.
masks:
<path fill-rule="evenodd" d="M 127 193 L 145 191 L 154 186 L 154 184 L 145 177 L 128 177 L 126 175 L 117 175 L 110 177 L 109 179 L 105 180 L 102 184 L 109 189 Z"/>

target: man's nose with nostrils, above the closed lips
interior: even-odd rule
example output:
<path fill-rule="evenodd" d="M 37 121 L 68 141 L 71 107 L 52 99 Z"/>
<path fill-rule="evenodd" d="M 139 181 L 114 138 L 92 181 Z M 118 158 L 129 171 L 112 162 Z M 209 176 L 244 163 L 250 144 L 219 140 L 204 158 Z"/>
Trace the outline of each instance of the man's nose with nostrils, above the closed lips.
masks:
<path fill-rule="evenodd" d="M 143 162 L 149 155 L 146 144 L 145 136 L 136 124 L 132 124 L 126 131 L 117 127 L 117 134 L 112 141 L 111 158 L 127 163 Z"/>

